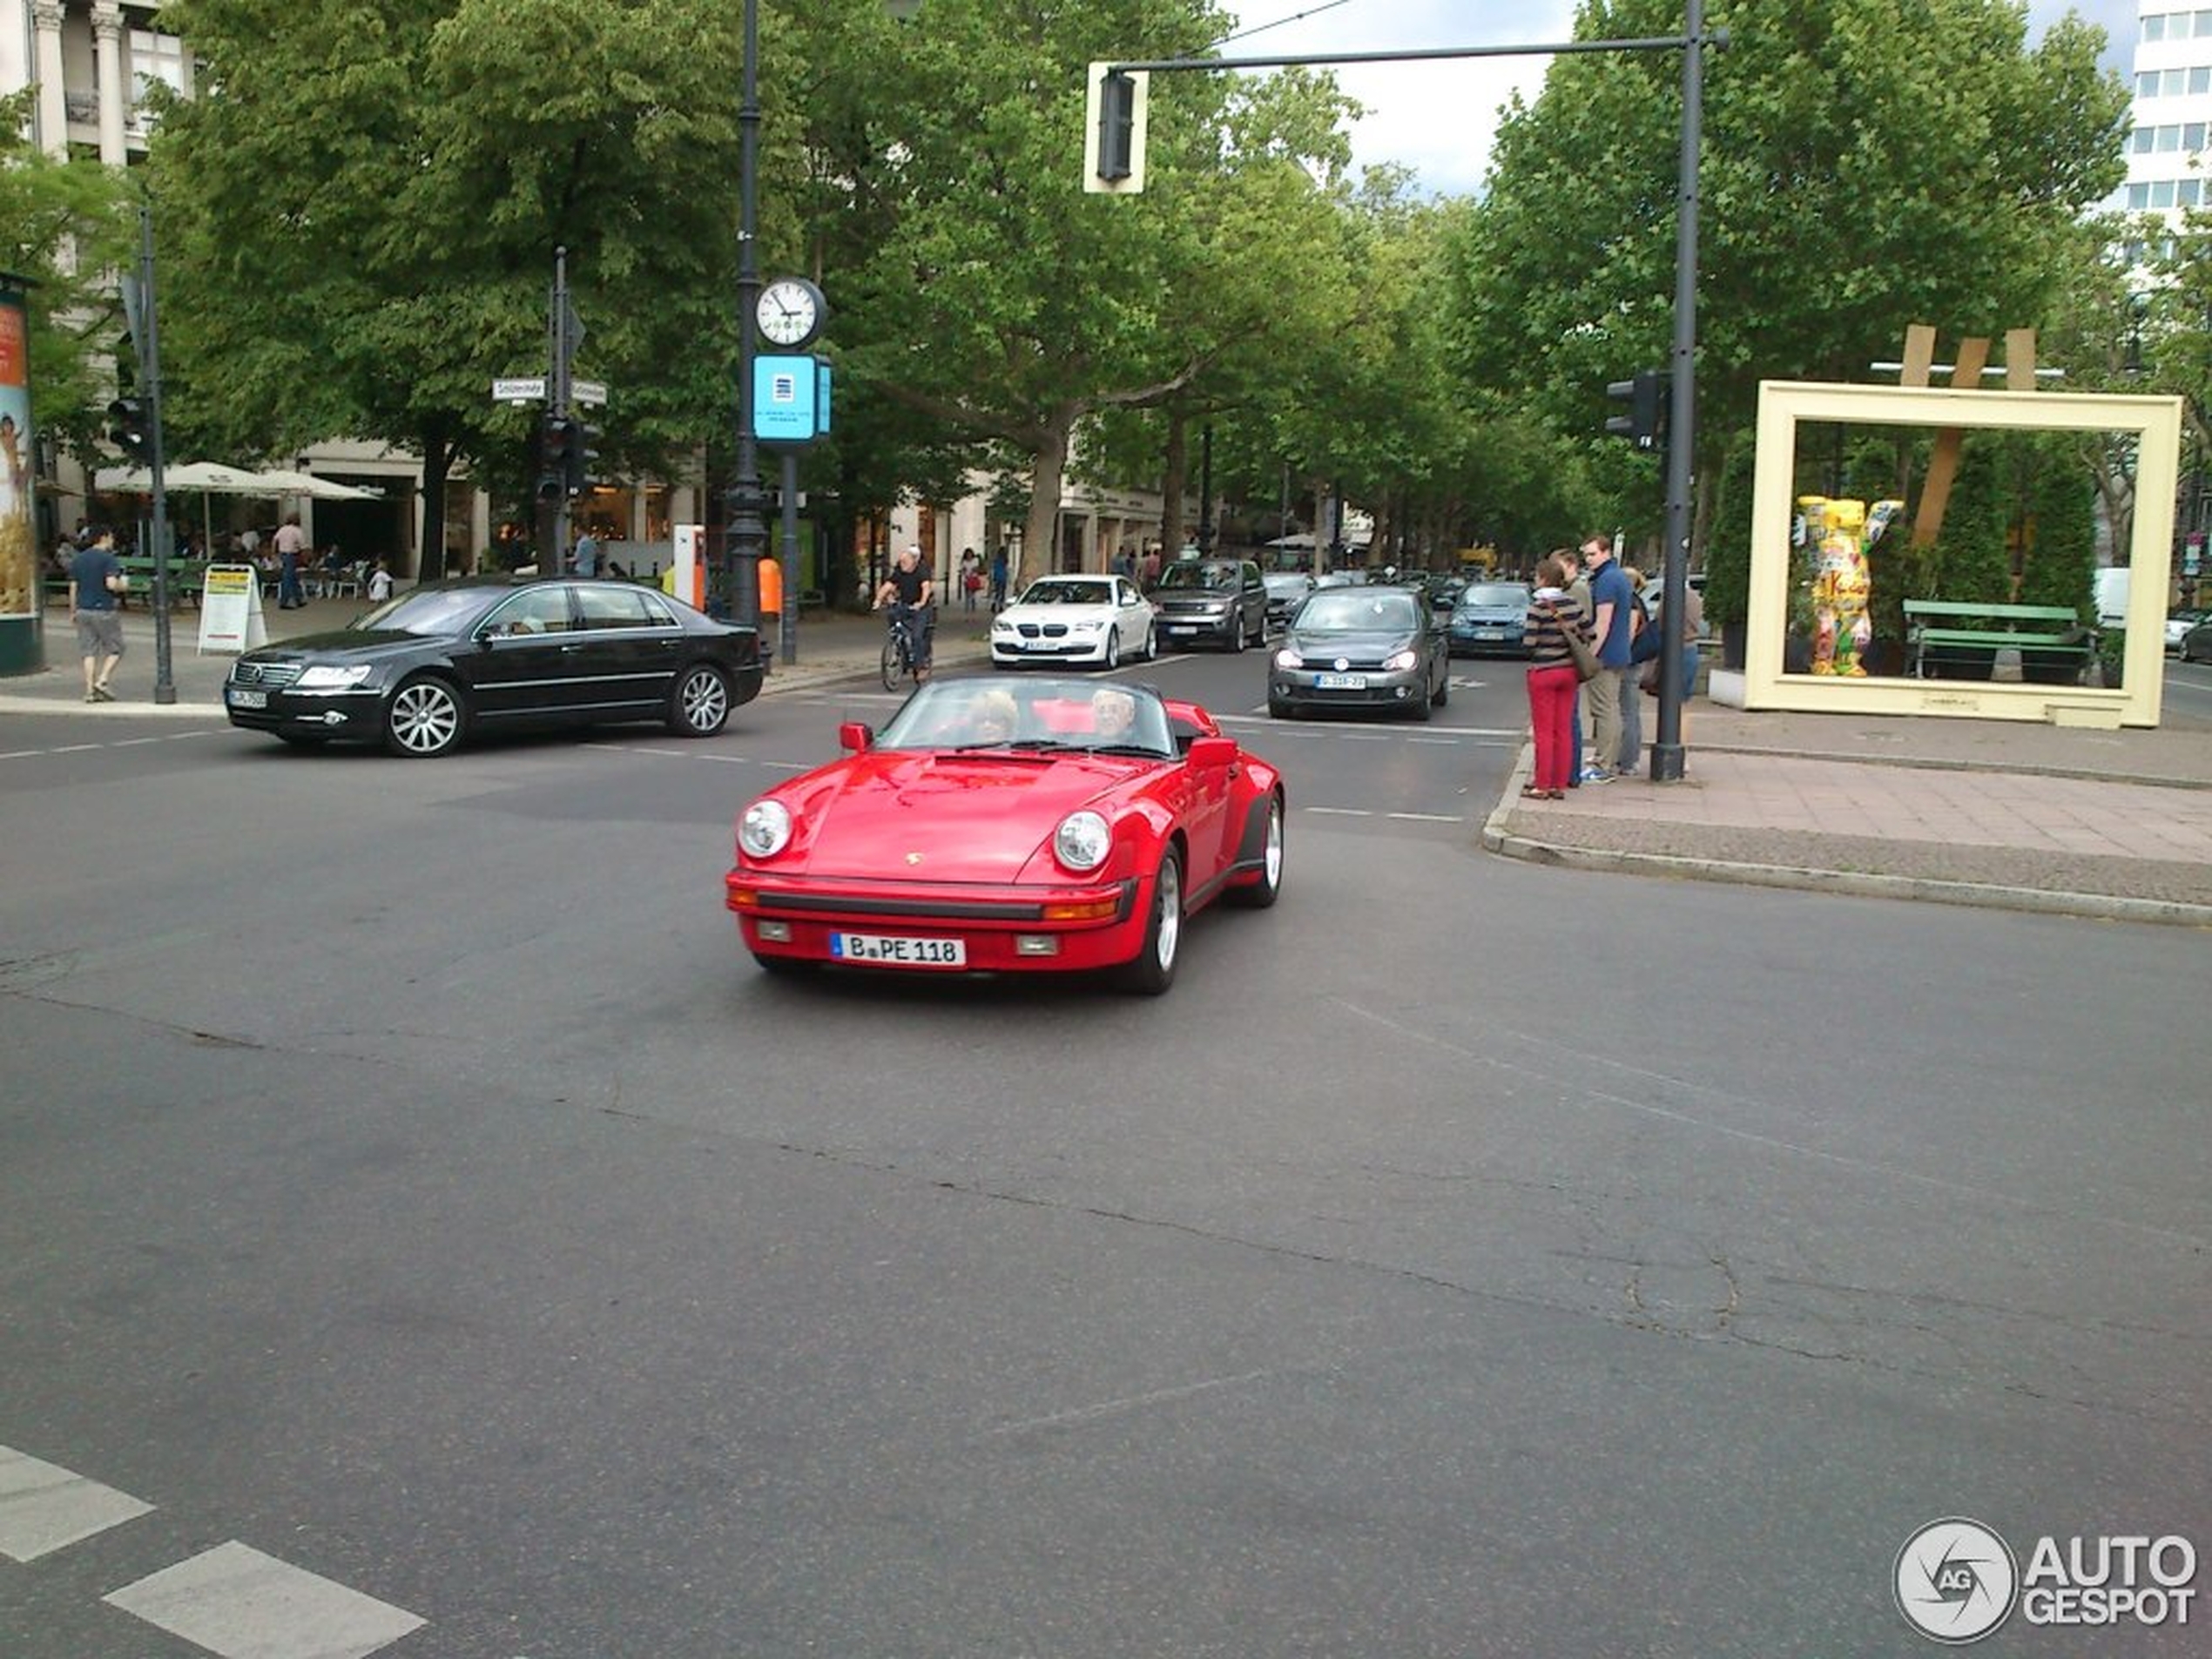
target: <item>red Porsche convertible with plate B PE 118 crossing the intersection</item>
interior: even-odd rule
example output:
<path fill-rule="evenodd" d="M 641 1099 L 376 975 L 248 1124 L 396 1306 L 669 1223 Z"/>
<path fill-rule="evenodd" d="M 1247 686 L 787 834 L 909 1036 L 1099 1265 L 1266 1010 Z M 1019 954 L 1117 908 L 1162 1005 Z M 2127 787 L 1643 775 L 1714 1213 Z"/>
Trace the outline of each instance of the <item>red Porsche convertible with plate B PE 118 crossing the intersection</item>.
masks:
<path fill-rule="evenodd" d="M 1113 969 L 1175 982 L 1183 918 L 1283 891 L 1283 779 L 1197 703 L 933 679 L 737 821 L 726 902 L 768 971 Z"/>

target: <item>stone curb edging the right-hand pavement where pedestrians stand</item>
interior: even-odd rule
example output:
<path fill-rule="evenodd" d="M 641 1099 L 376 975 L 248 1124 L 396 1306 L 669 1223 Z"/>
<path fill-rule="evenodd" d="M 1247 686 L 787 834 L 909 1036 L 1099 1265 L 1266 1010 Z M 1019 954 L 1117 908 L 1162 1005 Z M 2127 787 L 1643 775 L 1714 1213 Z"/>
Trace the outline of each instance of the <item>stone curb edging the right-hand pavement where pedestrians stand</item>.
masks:
<path fill-rule="evenodd" d="M 1743 750 L 1739 750 L 1743 752 Z M 1809 757 L 1838 759 L 1838 757 Z M 1929 876 L 1880 876 L 1858 869 L 1820 869 L 1816 865 L 1747 865 L 1725 858 L 1683 858 L 1679 854 L 1621 852 L 1617 847 L 1577 847 L 1564 841 L 1542 841 L 1506 827 L 1522 779 L 1535 763 L 1533 745 L 1522 745 L 1506 779 L 1504 794 L 1482 821 L 1482 849 L 1500 858 L 1562 869 L 1595 869 L 1617 876 L 1672 876 L 1677 880 L 1734 883 L 1739 887 L 1792 887 L 1809 894 L 1847 898 L 1911 898 L 1933 905 L 1969 905 L 1980 909 L 2015 909 L 2039 916 L 2079 916 L 2104 922 L 2161 922 L 2166 927 L 2212 927 L 2212 905 L 2185 905 L 2166 898 L 2121 898 L 2115 894 L 2077 894 L 2046 887 L 2002 887 L 1975 880 L 1933 880 Z M 1962 768 L 1991 770 L 1991 768 Z M 1997 768 L 2006 770 L 2006 768 Z"/>

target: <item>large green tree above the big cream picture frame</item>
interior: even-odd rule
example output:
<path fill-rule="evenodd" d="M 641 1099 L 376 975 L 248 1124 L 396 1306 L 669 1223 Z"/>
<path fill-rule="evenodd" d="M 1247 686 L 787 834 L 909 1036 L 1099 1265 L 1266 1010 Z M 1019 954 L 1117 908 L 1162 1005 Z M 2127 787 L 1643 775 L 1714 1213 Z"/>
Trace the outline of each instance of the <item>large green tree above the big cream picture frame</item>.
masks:
<path fill-rule="evenodd" d="M 2073 221 L 2121 177 L 2126 86 L 2079 18 L 2026 46 L 2011 0 L 1714 0 L 1705 77 L 1699 478 L 1763 378 L 1860 378 L 1907 323 L 2044 321 Z M 1577 38 L 1681 29 L 1586 0 Z M 1597 431 L 1608 380 L 1672 343 L 1679 58 L 1555 60 L 1500 126 L 1460 239 L 1458 349 L 1482 383 Z M 1701 522 L 1703 522 L 1701 513 Z"/>

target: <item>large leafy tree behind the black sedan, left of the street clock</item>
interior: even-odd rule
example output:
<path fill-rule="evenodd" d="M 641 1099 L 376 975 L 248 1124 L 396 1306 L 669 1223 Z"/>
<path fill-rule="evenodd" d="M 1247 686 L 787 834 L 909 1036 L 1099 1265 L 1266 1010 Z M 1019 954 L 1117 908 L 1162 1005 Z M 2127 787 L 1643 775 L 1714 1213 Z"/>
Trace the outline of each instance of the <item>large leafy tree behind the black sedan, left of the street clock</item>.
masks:
<path fill-rule="evenodd" d="M 208 93 L 150 164 L 170 228 L 177 414 L 206 447 L 330 436 L 422 456 L 425 575 L 445 480 L 511 458 L 489 383 L 546 361 L 568 248 L 608 453 L 728 425 L 737 226 L 732 9 L 714 0 L 173 0 Z"/>

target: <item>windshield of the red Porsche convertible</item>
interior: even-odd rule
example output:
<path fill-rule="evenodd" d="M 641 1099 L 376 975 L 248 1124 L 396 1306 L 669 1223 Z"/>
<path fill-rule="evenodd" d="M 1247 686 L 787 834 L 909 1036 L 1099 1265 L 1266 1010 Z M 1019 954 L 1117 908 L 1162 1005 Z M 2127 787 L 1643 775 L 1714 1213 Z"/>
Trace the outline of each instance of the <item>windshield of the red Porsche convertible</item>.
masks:
<path fill-rule="evenodd" d="M 1168 710 L 1141 686 L 1088 679 L 933 679 L 891 717 L 878 750 L 1055 754 L 1093 750 L 1172 759 Z"/>

